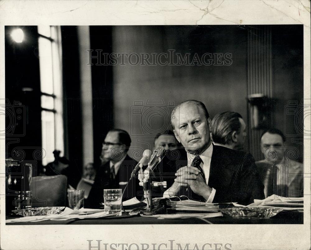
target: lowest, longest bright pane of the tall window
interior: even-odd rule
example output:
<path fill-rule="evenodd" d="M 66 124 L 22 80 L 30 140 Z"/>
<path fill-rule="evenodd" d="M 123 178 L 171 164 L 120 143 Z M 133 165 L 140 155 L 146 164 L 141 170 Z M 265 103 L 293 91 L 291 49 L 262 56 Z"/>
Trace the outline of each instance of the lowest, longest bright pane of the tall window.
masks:
<path fill-rule="evenodd" d="M 45 157 L 42 164 L 45 166 L 49 162 L 54 161 L 53 151 L 55 149 L 55 125 L 54 113 L 50 111 L 41 111 L 42 121 L 42 149 Z"/>

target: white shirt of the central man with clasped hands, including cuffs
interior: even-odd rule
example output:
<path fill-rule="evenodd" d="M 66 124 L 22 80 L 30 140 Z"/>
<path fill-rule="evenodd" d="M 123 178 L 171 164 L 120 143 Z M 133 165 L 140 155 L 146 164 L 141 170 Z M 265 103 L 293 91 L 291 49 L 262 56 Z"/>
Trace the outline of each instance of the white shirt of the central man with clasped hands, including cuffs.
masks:
<path fill-rule="evenodd" d="M 200 158 L 202 159 L 200 167 L 203 169 L 203 172 L 205 175 L 205 180 L 206 180 L 206 185 L 208 185 L 208 179 L 210 177 L 212 153 L 213 153 L 213 144 L 211 143 L 211 145 L 200 155 Z M 188 166 L 191 165 L 191 163 L 195 157 L 196 157 L 195 155 L 187 152 Z M 212 188 L 211 194 L 208 197 L 206 203 L 212 203 L 213 202 L 214 197 L 215 197 L 215 193 L 216 193 L 216 189 Z M 169 189 L 167 189 L 164 192 L 163 197 L 170 197 Z"/>

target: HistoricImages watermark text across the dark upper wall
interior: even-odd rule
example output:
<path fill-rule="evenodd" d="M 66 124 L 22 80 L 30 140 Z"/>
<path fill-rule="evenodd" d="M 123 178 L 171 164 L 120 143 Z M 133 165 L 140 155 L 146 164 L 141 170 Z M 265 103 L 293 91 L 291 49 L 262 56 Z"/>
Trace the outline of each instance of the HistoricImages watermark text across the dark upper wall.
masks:
<path fill-rule="evenodd" d="M 148 65 L 148 66 L 230 66 L 232 53 L 178 53 L 167 50 L 162 53 L 104 53 L 103 50 L 87 50 L 87 65 Z"/>

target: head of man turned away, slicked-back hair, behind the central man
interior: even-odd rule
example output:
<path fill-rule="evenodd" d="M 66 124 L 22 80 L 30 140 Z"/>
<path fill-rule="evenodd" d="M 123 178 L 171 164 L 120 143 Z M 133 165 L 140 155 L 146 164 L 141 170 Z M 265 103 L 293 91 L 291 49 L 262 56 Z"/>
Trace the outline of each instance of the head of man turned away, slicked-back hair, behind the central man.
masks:
<path fill-rule="evenodd" d="M 246 125 L 239 113 L 219 113 L 213 118 L 212 126 L 212 140 L 215 145 L 234 150 L 244 149 Z"/>

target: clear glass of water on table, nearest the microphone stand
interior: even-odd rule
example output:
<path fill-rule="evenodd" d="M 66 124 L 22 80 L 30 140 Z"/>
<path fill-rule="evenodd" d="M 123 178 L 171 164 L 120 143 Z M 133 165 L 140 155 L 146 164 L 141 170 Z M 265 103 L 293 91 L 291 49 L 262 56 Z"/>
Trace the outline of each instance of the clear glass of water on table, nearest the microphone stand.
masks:
<path fill-rule="evenodd" d="M 121 216 L 122 189 L 104 189 L 104 208 L 111 215 Z"/>

